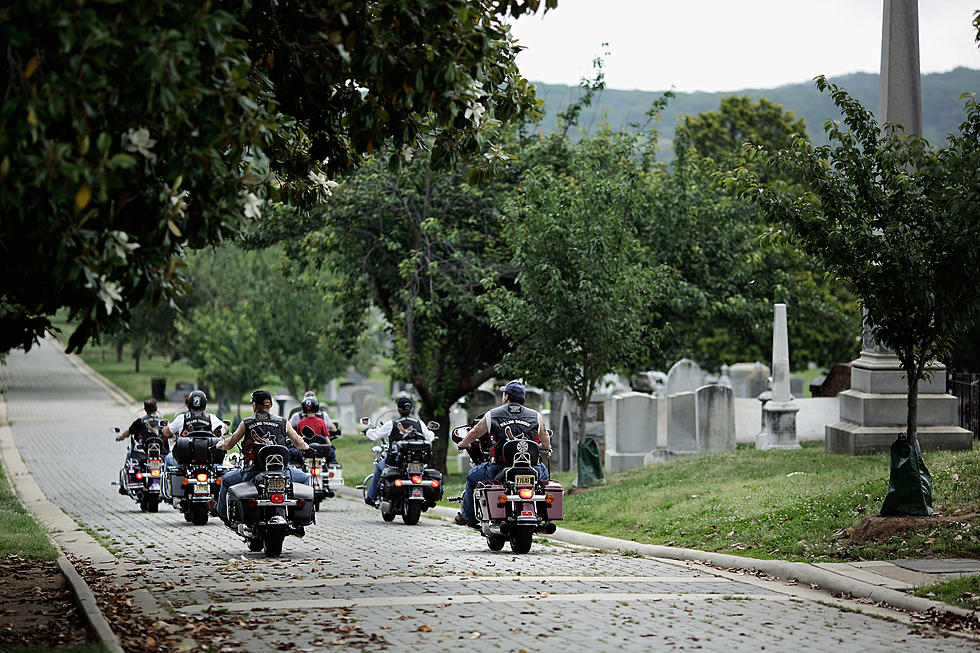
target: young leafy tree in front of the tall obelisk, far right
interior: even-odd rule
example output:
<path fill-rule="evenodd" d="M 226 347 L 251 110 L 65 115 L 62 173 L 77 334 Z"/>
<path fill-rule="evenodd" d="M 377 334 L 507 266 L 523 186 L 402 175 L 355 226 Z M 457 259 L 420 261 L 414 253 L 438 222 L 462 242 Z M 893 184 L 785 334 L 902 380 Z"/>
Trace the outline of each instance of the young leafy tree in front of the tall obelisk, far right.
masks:
<path fill-rule="evenodd" d="M 793 149 L 745 151 L 750 161 L 792 172 L 803 192 L 774 189 L 744 167 L 726 183 L 786 226 L 773 237 L 788 237 L 853 288 L 868 327 L 906 372 L 914 444 L 926 365 L 949 351 L 980 307 L 980 108 L 964 95 L 960 133 L 932 147 L 900 126 L 880 130 L 870 111 L 825 78 L 817 86 L 846 123 L 827 123 L 830 145 L 801 139 Z"/>

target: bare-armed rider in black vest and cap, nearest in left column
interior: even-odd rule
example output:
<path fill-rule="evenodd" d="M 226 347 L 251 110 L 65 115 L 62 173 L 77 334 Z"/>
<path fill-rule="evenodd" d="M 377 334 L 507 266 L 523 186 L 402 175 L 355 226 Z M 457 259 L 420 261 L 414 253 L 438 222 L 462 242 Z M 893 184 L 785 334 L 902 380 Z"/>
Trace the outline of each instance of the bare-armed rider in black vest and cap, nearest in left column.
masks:
<path fill-rule="evenodd" d="M 242 442 L 242 454 L 244 467 L 225 472 L 221 477 L 221 490 L 218 492 L 218 516 L 225 523 L 228 523 L 228 488 L 249 481 L 258 473 L 255 470 L 255 456 L 259 447 L 266 444 L 281 444 L 286 446 L 292 442 L 300 451 L 306 451 L 310 445 L 299 436 L 293 427 L 282 417 L 270 415 L 269 409 L 272 407 L 272 395 L 268 390 L 256 390 L 252 393 L 253 417 L 246 417 L 230 436 L 215 445 L 218 449 L 228 451 L 239 440 Z M 306 484 L 309 476 L 294 467 L 287 467 L 293 483 Z"/>

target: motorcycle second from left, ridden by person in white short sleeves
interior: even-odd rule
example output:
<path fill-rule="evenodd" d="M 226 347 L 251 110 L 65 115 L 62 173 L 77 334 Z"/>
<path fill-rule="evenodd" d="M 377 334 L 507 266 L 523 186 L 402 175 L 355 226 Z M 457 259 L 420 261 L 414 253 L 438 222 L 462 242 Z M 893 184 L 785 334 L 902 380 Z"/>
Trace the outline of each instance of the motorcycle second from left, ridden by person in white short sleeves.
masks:
<path fill-rule="evenodd" d="M 192 431 L 177 438 L 173 454 L 181 467 L 168 467 L 163 475 L 163 498 L 195 526 L 208 523 L 208 502 L 217 500 L 225 452 L 215 449 L 221 438 L 209 431 Z"/>

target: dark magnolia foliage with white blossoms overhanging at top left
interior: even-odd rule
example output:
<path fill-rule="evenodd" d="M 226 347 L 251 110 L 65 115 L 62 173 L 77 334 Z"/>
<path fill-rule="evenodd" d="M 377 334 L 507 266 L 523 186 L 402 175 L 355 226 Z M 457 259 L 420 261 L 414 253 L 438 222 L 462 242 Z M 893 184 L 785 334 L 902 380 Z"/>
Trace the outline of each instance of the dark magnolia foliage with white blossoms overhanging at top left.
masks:
<path fill-rule="evenodd" d="M 13 3 L 0 17 L 0 352 L 66 307 L 69 349 L 186 287 L 185 249 L 362 154 L 436 165 L 537 115 L 504 18 L 556 0 Z"/>

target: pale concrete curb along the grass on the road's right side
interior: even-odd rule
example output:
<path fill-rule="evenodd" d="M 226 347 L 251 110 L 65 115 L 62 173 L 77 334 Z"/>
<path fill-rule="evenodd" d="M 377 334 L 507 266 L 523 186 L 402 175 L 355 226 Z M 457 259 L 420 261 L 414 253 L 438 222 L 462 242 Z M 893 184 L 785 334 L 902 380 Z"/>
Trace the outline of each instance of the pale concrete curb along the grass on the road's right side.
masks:
<path fill-rule="evenodd" d="M 359 490 L 340 488 L 339 494 L 362 500 Z M 444 506 L 429 508 L 428 512 L 435 512 L 441 517 L 452 519 L 456 515 L 456 510 Z M 424 514 L 424 513 L 423 513 Z M 573 544 L 576 546 L 599 549 L 602 551 L 630 551 L 654 558 L 665 558 L 667 560 L 680 560 L 689 562 L 699 562 L 712 567 L 723 569 L 744 569 L 746 571 L 757 571 L 773 578 L 783 580 L 795 580 L 806 585 L 818 585 L 833 594 L 843 594 L 857 599 L 869 599 L 875 603 L 882 603 L 893 608 L 905 610 L 907 612 L 946 612 L 962 617 L 973 617 L 980 620 L 980 612 L 967 610 L 954 605 L 933 601 L 918 596 L 910 596 L 897 590 L 886 587 L 879 587 L 871 583 L 865 583 L 854 578 L 842 576 L 826 569 L 821 569 L 806 562 L 788 562 L 785 560 L 759 560 L 757 558 L 745 558 L 742 556 L 729 555 L 725 553 L 712 553 L 710 551 L 699 551 L 697 549 L 682 549 L 672 546 L 661 546 L 657 544 L 641 544 L 629 540 L 620 540 L 604 535 L 592 535 L 582 533 L 567 528 L 559 528 L 553 535 L 543 535 L 550 540 Z"/>

